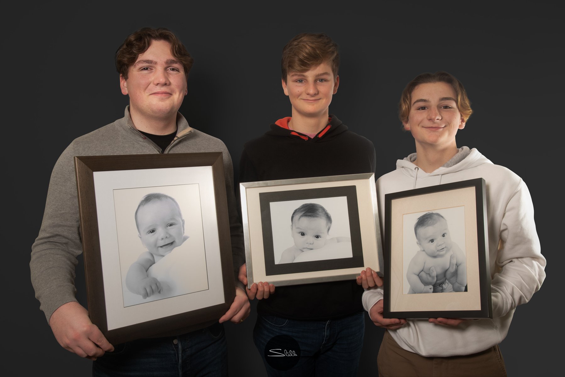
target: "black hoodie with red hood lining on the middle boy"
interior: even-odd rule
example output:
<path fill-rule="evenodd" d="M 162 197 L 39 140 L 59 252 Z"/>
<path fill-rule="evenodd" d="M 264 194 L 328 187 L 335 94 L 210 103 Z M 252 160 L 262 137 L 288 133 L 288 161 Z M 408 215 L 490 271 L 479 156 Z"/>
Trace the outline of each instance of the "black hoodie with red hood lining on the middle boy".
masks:
<path fill-rule="evenodd" d="M 331 127 L 322 137 L 307 140 L 271 124 L 271 131 L 245 144 L 240 182 L 374 173 L 373 143 L 348 131 L 335 115 L 331 118 Z M 260 300 L 257 311 L 299 320 L 338 318 L 362 311 L 362 294 L 363 288 L 355 280 L 288 285 Z"/>

